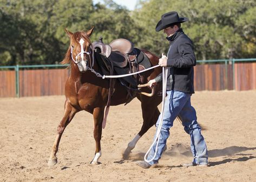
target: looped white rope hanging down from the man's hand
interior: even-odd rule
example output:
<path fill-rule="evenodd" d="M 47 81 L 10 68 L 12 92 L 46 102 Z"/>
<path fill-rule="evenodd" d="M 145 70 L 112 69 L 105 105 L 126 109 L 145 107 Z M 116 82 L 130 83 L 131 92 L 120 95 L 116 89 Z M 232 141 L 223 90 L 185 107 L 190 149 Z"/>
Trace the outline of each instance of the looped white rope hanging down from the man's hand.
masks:
<path fill-rule="evenodd" d="M 160 118 L 160 122 L 159 122 L 159 126 L 157 128 L 157 132 L 156 132 L 156 137 L 154 139 L 154 142 L 152 143 L 152 145 L 150 146 L 150 148 L 148 149 L 147 153 L 144 156 L 144 160 L 149 163 L 152 162 L 152 160 L 155 158 L 156 153 L 157 153 L 157 149 L 158 149 L 158 143 L 159 143 L 159 138 L 160 138 L 160 131 L 162 129 L 162 123 L 163 123 L 163 109 L 165 106 L 165 96 L 166 96 L 166 83 L 167 83 L 167 75 L 168 75 L 168 68 L 167 67 L 162 67 L 162 74 L 163 74 L 163 79 L 162 79 L 162 109 L 161 109 L 161 118 Z M 147 160 L 147 156 L 149 151 L 153 148 L 154 144 L 156 142 L 156 148 L 155 148 L 155 154 L 154 157 L 152 159 Z"/>

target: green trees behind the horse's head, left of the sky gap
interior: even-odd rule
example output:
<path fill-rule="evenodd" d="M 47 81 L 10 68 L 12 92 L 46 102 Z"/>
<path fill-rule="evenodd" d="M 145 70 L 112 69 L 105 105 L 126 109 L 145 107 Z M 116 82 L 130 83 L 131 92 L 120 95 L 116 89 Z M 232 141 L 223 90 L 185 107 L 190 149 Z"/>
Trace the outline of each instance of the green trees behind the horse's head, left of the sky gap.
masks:
<path fill-rule="evenodd" d="M 130 11 L 111 0 L 96 5 L 92 0 L 0 0 L 0 7 L 0 54 L 2 59 L 6 51 L 11 55 L 1 62 L 5 65 L 60 62 L 69 46 L 65 28 L 75 32 L 95 26 L 91 41 L 140 39 Z"/>

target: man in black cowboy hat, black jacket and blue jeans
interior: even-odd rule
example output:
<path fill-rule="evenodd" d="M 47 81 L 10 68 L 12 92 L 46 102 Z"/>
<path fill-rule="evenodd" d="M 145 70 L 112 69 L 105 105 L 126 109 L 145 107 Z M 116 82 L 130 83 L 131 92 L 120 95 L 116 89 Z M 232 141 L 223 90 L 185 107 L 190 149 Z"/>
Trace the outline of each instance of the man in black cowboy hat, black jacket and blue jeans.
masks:
<path fill-rule="evenodd" d="M 192 163 L 182 164 L 183 166 L 207 166 L 208 154 L 204 137 L 201 135 L 201 128 L 196 121 L 196 111 L 191 106 L 191 95 L 194 94 L 193 86 L 193 66 L 196 64 L 193 43 L 181 29 L 181 23 L 187 22 L 186 17 L 179 17 L 175 11 L 165 13 L 156 25 L 156 31 L 163 30 L 167 34 L 170 43 L 167 57 L 162 54 L 159 65 L 168 67 L 167 96 L 163 110 L 163 123 L 160 132 L 159 145 L 155 158 L 146 162 L 137 161 L 136 164 L 149 168 L 157 164 L 166 147 L 166 140 L 169 137 L 169 129 L 173 126 L 173 121 L 179 117 L 187 134 L 191 136 L 191 151 L 194 159 Z M 162 81 L 162 74 L 148 83 L 150 87 Z M 156 130 L 159 126 L 159 119 L 156 122 Z M 155 134 L 156 137 L 156 134 Z M 156 143 L 149 151 L 147 160 L 154 157 Z"/>

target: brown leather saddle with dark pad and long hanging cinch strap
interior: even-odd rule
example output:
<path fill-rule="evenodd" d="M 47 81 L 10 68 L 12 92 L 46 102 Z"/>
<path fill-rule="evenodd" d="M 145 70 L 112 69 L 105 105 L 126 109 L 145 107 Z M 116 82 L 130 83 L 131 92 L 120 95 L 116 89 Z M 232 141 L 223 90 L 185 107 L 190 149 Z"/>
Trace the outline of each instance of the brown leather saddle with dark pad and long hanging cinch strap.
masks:
<path fill-rule="evenodd" d="M 107 45 L 103 43 L 101 37 L 99 41 L 92 44 L 92 49 L 95 53 L 97 64 L 99 64 L 101 72 L 105 75 L 135 73 L 151 66 L 147 56 L 139 49 L 134 48 L 133 43 L 127 39 L 115 39 Z M 137 76 L 137 74 L 119 78 L 121 84 L 127 88 L 127 101 L 125 104 L 132 101 L 136 93 L 140 92 L 140 88 L 137 88 L 140 78 L 141 75 Z M 111 96 L 115 91 L 115 81 L 116 79 L 109 79 L 108 102 L 103 123 L 106 123 L 107 120 Z"/>

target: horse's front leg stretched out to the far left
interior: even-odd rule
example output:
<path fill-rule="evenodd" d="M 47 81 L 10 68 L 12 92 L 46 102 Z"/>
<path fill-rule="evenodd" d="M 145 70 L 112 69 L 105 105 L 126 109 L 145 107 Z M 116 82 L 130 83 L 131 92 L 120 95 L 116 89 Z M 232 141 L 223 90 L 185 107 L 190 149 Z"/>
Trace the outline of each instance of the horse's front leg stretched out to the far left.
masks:
<path fill-rule="evenodd" d="M 77 109 L 71 107 L 66 100 L 65 108 L 64 108 L 64 117 L 62 118 L 57 128 L 57 135 L 54 141 L 54 145 L 52 146 L 51 155 L 48 160 L 48 166 L 54 166 L 57 163 L 56 153 L 58 151 L 58 145 L 60 144 L 60 141 L 61 141 L 61 136 L 63 134 L 64 129 L 67 127 L 67 125 L 70 123 L 70 121 L 73 119 L 76 113 L 77 113 Z"/>

